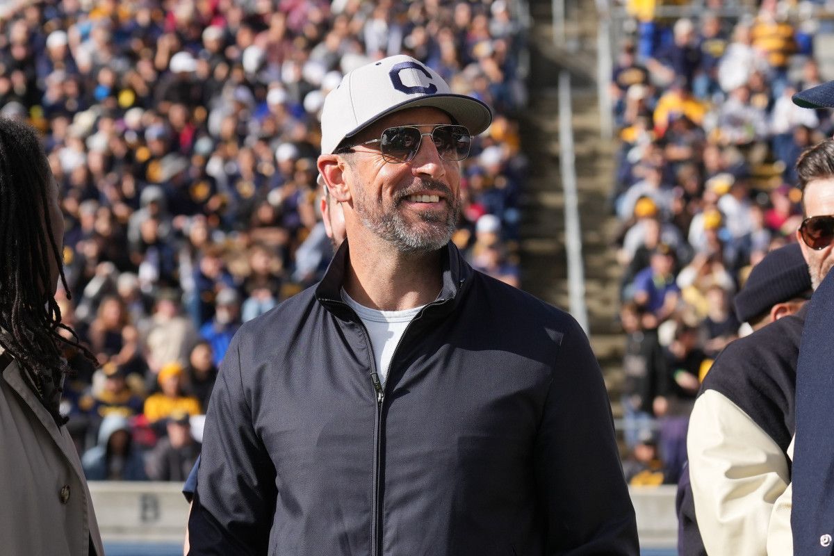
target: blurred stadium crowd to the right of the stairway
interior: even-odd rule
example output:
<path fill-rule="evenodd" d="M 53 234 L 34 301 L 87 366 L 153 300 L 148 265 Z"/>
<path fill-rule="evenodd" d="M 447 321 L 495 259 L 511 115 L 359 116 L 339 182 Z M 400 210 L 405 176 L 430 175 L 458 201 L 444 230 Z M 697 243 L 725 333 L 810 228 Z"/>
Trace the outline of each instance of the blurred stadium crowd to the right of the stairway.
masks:
<path fill-rule="evenodd" d="M 795 241 L 794 165 L 834 123 L 791 103 L 821 83 L 815 23 L 791 3 L 763 0 L 755 16 L 721 18 L 722 3 L 708 2 L 716 13 L 671 20 L 639 4 L 628 3 L 636 32 L 610 86 L 625 472 L 633 484 L 676 483 L 700 381 L 745 333 L 732 298 L 765 253 Z"/>

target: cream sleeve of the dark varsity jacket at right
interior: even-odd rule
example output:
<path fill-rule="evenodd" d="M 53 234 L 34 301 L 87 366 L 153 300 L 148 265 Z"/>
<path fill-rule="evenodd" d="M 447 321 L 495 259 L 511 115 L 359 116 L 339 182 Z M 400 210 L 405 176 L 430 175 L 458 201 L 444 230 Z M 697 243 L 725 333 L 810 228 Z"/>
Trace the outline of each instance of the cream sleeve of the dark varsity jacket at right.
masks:
<path fill-rule="evenodd" d="M 706 390 L 691 413 L 687 453 L 706 552 L 766 553 L 773 503 L 790 475 L 779 445 L 729 398 Z"/>

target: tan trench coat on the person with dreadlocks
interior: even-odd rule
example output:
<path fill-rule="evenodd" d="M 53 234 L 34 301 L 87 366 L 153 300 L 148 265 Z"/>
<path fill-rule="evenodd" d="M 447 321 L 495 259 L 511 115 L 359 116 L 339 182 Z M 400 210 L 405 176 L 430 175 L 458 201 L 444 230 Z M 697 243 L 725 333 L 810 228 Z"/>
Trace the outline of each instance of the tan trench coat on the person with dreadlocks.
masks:
<path fill-rule="evenodd" d="M 38 402 L 15 361 L 0 377 L 0 553 L 104 554 L 73 440 Z"/>

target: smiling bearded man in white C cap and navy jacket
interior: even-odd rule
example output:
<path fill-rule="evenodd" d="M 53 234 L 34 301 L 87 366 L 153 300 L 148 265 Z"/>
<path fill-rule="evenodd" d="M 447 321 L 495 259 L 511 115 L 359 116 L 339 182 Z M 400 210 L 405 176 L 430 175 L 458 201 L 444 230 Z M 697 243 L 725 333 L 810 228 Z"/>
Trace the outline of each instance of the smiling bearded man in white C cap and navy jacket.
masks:
<path fill-rule="evenodd" d="M 450 243 L 490 119 L 406 56 L 329 93 L 319 180 L 347 239 L 234 338 L 190 553 L 638 553 L 585 333 Z"/>

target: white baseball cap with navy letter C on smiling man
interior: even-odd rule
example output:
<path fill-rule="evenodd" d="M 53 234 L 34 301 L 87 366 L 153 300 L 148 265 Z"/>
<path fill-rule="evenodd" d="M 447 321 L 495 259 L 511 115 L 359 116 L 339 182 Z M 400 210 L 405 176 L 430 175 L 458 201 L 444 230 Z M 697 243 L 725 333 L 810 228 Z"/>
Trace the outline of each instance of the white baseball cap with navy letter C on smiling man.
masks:
<path fill-rule="evenodd" d="M 409 56 L 366 64 L 347 73 L 324 98 L 321 152 L 333 153 L 344 138 L 390 113 L 428 106 L 448 113 L 477 135 L 492 122 L 490 108 L 477 98 L 451 92 L 440 74 Z"/>

